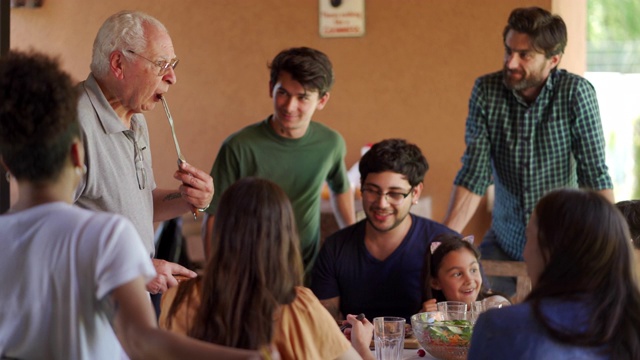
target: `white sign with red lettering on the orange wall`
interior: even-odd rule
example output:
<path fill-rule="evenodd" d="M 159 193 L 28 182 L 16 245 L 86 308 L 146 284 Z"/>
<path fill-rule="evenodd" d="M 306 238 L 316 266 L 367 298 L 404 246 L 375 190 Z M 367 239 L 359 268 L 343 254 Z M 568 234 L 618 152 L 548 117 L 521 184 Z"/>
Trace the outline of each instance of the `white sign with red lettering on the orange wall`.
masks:
<path fill-rule="evenodd" d="M 365 0 L 318 0 L 321 37 L 364 36 Z"/>

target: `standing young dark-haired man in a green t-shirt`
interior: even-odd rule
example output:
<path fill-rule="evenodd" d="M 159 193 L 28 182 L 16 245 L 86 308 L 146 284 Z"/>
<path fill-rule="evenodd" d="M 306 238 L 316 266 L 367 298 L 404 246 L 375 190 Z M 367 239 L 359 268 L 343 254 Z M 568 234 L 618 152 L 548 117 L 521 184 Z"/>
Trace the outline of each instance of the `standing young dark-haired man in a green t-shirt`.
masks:
<path fill-rule="evenodd" d="M 344 139 L 311 120 L 329 101 L 333 69 L 324 53 L 306 47 L 281 51 L 269 68 L 273 114 L 229 136 L 213 164 L 216 191 L 203 223 L 205 255 L 208 257 L 220 196 L 236 180 L 256 176 L 275 182 L 289 196 L 307 273 L 320 248 L 320 201 L 325 181 L 338 225 L 355 222 Z"/>

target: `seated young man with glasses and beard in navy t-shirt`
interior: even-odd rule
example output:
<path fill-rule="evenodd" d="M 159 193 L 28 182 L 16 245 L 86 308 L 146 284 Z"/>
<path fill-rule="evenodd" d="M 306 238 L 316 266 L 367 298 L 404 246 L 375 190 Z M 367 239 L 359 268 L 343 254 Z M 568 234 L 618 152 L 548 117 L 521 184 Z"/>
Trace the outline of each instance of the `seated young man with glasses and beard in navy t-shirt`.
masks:
<path fill-rule="evenodd" d="M 329 236 L 313 268 L 311 289 L 336 318 L 409 320 L 422 307 L 422 271 L 431 241 L 453 230 L 410 213 L 429 165 L 401 139 L 381 141 L 360 160 L 366 218 Z"/>

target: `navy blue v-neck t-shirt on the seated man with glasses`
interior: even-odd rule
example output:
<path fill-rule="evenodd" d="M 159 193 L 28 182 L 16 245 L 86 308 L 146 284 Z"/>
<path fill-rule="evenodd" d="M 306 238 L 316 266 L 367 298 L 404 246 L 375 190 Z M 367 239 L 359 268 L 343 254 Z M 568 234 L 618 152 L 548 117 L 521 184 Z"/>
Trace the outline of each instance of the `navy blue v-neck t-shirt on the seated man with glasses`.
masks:
<path fill-rule="evenodd" d="M 411 228 L 384 261 L 364 244 L 366 219 L 329 236 L 313 268 L 311 290 L 320 299 L 340 296 L 340 312 L 368 319 L 399 316 L 410 320 L 422 308 L 425 251 L 443 233 L 455 231 L 411 214 Z"/>

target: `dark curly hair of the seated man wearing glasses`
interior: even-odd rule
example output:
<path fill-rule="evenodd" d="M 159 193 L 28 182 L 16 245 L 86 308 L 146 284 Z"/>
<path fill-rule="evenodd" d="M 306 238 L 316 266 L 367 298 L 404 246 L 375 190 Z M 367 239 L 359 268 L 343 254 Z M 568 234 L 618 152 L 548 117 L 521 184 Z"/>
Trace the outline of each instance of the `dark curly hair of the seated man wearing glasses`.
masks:
<path fill-rule="evenodd" d="M 406 176 L 411 186 L 424 180 L 429 170 L 427 159 L 420 148 L 403 139 L 387 139 L 374 144 L 360 159 L 360 183 L 369 173 L 392 171 Z"/>

